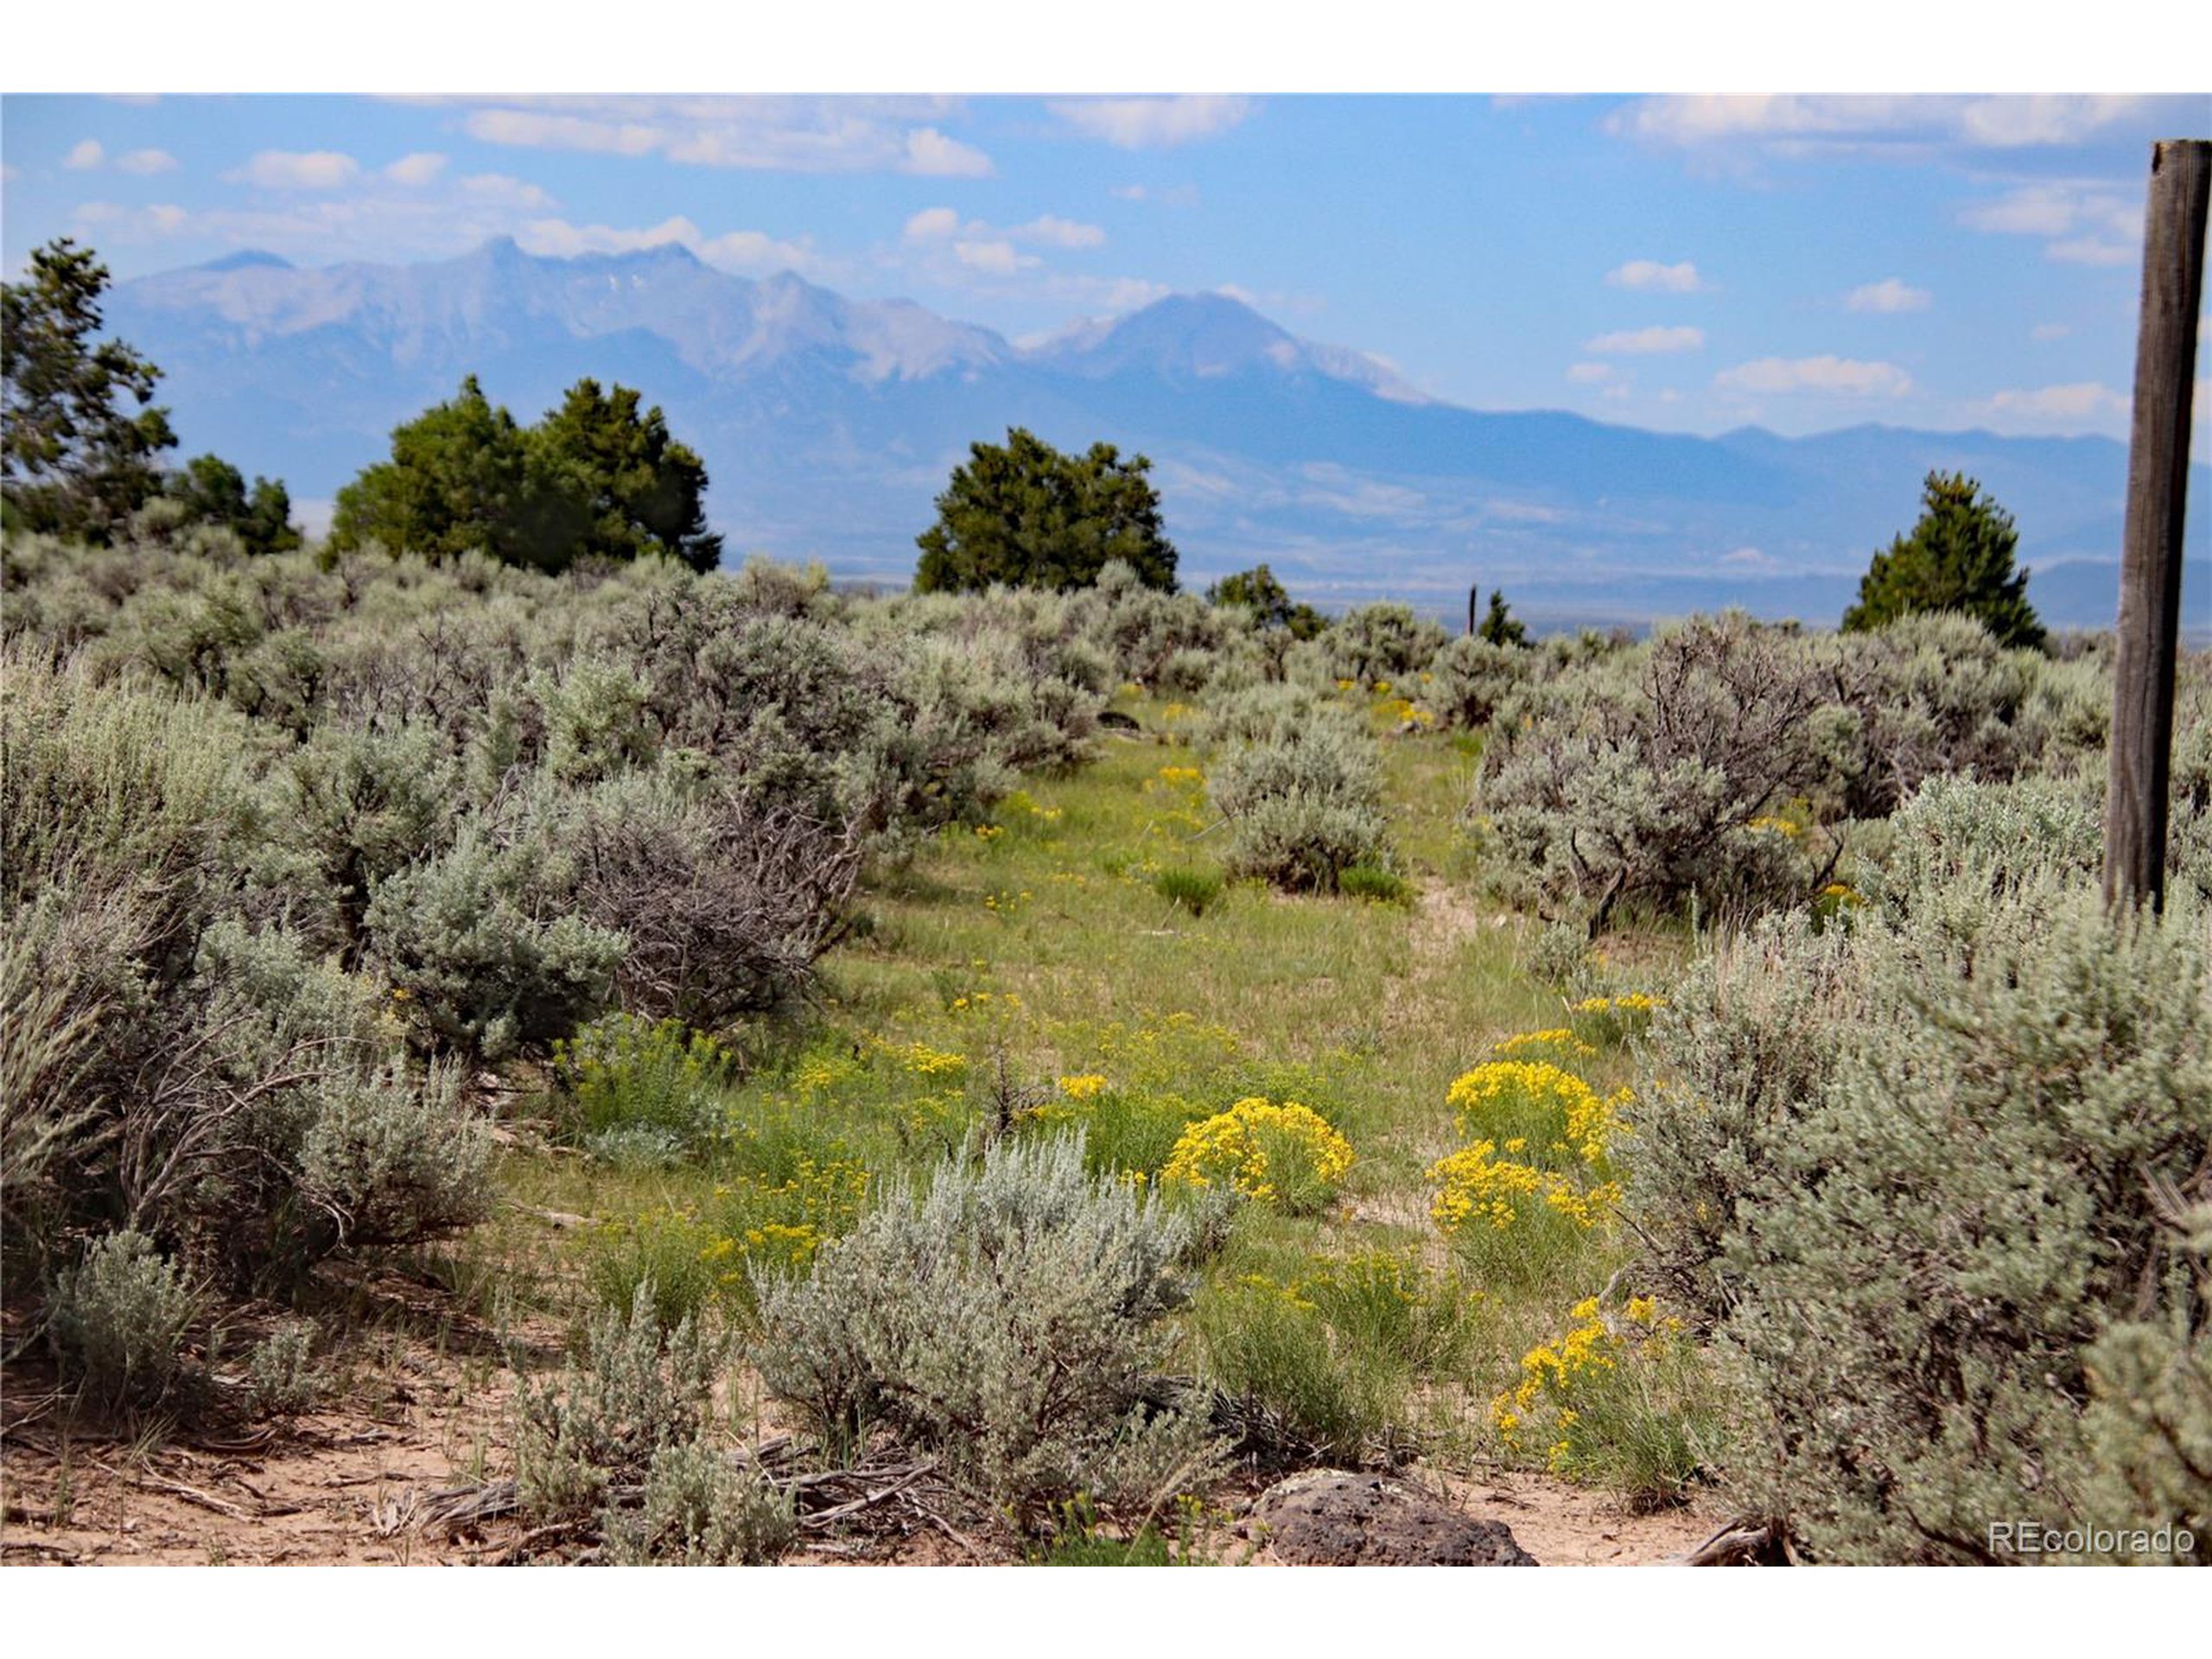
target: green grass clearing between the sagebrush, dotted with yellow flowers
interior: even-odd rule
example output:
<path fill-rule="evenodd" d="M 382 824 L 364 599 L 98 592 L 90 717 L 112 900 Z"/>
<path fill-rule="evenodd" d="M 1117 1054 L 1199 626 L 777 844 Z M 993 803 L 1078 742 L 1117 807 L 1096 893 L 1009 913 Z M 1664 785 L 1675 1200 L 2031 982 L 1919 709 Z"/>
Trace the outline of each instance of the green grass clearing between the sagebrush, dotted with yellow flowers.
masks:
<path fill-rule="evenodd" d="M 509 1155 L 513 1203 L 473 1248 L 513 1263 L 518 1296 L 546 1307 L 653 1276 L 664 1314 L 743 1323 L 748 1261 L 803 1263 L 849 1225 L 856 1206 L 843 1188 L 823 1197 L 836 1188 L 825 1170 L 880 1190 L 922 1177 L 978 1124 L 1073 1121 L 1093 1168 L 1157 1181 L 1188 1124 L 1248 1095 L 1294 1099 L 1356 1161 L 1325 1214 L 1239 1212 L 1183 1316 L 1179 1363 L 1303 1402 L 1327 1438 L 1413 1425 L 1436 1455 L 1495 1455 L 1491 1398 L 1626 1250 L 1586 1237 L 1511 1274 L 1458 1256 L 1429 1219 L 1427 1170 L 1462 1144 L 1447 1091 L 1491 1044 L 1573 1026 L 1599 1048 L 1575 1068 L 1608 1093 L 1628 1077 L 1632 1022 L 1571 1015 L 1522 967 L 1537 925 L 1482 898 L 1460 823 L 1478 743 L 1400 734 L 1378 701 L 1405 891 L 1283 896 L 1214 874 L 1208 757 L 1175 737 L 1190 710 L 1130 710 L 1144 741 L 1026 779 L 982 832 L 947 830 L 869 880 L 867 922 L 821 964 L 805 1022 L 737 1033 L 750 1071 L 714 1084 L 712 1128 L 688 1159 Z M 1652 942 L 1648 958 L 1670 949 Z M 1661 980 L 1655 967 L 1641 989 Z M 681 1095 L 690 1110 L 697 1068 L 664 1071 L 684 1088 L 650 1099 Z M 608 1115 L 659 1115 L 622 1106 Z M 549 1210 L 595 1225 L 533 1221 Z"/>

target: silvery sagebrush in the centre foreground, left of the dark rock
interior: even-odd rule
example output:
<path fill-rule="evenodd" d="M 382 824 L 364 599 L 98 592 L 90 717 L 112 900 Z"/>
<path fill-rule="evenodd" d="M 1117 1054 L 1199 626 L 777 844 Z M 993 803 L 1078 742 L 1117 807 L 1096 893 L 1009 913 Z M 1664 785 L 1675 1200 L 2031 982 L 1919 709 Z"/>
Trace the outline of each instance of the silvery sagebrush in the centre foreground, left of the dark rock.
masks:
<path fill-rule="evenodd" d="M 1029 1517 L 1077 1493 L 1146 1506 L 1208 1460 L 1201 1425 L 1141 1405 L 1186 1239 L 1086 1175 L 1082 1135 L 998 1141 L 763 1283 L 757 1363 L 832 1442 L 896 1427 Z"/>

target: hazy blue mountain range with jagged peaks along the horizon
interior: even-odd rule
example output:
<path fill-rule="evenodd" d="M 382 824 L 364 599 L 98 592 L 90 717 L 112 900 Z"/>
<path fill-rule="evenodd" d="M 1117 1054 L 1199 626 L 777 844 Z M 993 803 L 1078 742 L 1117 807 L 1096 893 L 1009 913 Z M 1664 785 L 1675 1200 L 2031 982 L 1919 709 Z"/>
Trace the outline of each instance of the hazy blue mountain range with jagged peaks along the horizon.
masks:
<path fill-rule="evenodd" d="M 303 270 L 241 252 L 119 285 L 111 327 L 166 369 L 188 451 L 327 500 L 465 374 L 535 418 L 584 374 L 635 385 L 701 451 L 732 553 L 902 582 L 978 438 L 1026 425 L 1155 460 L 1186 577 L 1256 560 L 1321 602 L 1455 611 L 1471 582 L 1553 622 L 1717 604 L 1834 619 L 1929 469 L 2017 518 L 2059 626 L 2110 622 L 2126 453 L 2104 438 L 1851 427 L 1721 438 L 1425 398 L 1389 365 L 1177 294 L 1029 349 L 907 301 L 748 281 L 666 246 L 540 259 L 513 241 L 425 265 Z M 2205 604 L 2205 469 L 2188 619 Z"/>

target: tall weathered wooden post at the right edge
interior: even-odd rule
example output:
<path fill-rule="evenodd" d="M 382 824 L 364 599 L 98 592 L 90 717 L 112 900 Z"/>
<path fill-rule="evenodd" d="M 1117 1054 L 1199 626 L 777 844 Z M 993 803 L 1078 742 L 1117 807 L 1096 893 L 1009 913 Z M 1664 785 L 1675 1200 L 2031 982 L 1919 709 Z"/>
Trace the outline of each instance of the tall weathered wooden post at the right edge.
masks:
<path fill-rule="evenodd" d="M 2166 905 L 2166 785 L 2174 743 L 2181 520 L 2190 480 L 2190 383 L 2203 301 L 2212 142 L 2150 146 L 2135 429 L 2119 562 L 2112 759 L 2104 801 L 2104 902 Z"/>

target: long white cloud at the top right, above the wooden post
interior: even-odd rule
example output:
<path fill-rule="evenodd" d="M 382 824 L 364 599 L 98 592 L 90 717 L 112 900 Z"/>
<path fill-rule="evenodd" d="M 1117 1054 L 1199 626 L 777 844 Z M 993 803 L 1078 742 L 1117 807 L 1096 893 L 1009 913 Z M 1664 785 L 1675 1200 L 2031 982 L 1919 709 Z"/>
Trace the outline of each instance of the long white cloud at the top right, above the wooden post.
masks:
<path fill-rule="evenodd" d="M 1681 148 L 1940 142 L 2008 150 L 2081 144 L 2170 108 L 2179 117 L 2188 104 L 2154 97 L 1641 97 L 1613 111 L 1606 131 Z"/>

